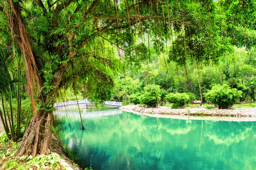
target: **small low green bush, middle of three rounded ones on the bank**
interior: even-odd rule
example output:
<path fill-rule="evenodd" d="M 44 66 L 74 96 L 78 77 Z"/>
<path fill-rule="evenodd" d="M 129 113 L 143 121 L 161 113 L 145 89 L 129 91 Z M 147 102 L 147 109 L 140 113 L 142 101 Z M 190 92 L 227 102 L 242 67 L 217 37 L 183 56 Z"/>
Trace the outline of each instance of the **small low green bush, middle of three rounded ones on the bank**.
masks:
<path fill-rule="evenodd" d="M 195 95 L 194 95 L 195 96 Z M 173 103 L 172 108 L 185 108 L 186 102 L 190 101 L 190 96 L 186 93 L 170 93 L 165 97 L 166 101 L 169 103 Z"/>

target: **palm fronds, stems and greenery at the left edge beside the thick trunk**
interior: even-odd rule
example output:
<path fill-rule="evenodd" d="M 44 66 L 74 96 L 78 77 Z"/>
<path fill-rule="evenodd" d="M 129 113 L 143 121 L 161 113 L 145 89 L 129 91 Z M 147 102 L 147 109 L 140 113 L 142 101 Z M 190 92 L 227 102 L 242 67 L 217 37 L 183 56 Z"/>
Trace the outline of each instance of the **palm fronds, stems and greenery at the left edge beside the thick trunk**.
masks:
<path fill-rule="evenodd" d="M 22 114 L 22 100 L 27 97 L 24 93 L 27 81 L 21 72 L 20 57 L 12 60 L 9 52 L 0 51 L 0 119 L 8 139 L 17 141 L 22 136 L 21 127 L 26 125 L 24 117 L 31 112 L 27 112 L 26 116 Z"/>

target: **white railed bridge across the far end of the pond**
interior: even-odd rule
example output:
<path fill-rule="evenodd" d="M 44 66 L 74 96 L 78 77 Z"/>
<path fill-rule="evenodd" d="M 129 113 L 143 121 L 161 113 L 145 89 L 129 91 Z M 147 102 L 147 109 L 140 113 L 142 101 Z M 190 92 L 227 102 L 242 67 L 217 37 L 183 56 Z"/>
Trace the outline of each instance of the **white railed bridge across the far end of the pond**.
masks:
<path fill-rule="evenodd" d="M 93 102 L 90 102 L 90 100 L 84 99 L 84 100 L 78 100 L 79 105 L 83 105 L 84 107 L 87 108 L 88 105 L 94 105 Z M 70 106 L 70 105 L 77 105 L 76 100 L 73 101 L 68 101 L 68 102 L 61 102 L 61 103 L 54 103 L 54 107 L 63 107 L 63 106 Z M 122 102 L 112 102 L 112 101 L 105 101 L 104 102 L 105 106 L 111 106 L 114 108 L 119 108 L 122 106 Z"/>

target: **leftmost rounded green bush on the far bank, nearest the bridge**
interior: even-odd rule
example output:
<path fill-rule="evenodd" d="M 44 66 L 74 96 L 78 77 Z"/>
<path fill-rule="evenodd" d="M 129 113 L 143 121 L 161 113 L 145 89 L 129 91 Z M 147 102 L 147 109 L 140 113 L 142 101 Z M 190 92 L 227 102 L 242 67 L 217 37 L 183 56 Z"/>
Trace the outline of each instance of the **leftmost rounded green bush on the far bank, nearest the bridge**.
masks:
<path fill-rule="evenodd" d="M 160 85 L 148 85 L 144 88 L 145 93 L 140 98 L 140 103 L 150 108 L 156 107 L 157 99 L 160 101 Z"/>

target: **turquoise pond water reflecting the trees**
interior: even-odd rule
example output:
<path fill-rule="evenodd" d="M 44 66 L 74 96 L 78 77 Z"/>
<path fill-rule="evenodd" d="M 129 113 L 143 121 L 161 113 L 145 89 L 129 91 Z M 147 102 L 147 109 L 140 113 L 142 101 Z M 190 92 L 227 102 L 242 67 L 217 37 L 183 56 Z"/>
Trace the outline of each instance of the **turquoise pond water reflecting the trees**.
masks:
<path fill-rule="evenodd" d="M 93 170 L 256 170 L 256 122 L 182 120 L 119 109 L 55 112 L 59 139 Z"/>

